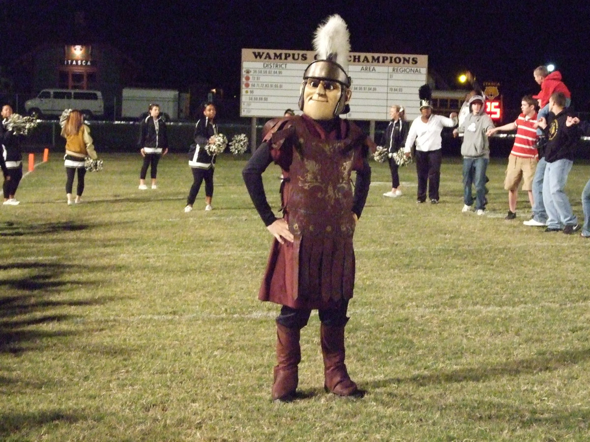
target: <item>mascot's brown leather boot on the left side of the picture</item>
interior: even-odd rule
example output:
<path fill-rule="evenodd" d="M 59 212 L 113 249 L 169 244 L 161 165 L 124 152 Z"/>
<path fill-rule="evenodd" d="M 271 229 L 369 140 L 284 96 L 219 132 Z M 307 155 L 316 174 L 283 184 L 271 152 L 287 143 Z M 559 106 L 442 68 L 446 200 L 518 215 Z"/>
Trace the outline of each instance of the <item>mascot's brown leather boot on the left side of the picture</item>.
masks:
<path fill-rule="evenodd" d="M 299 383 L 297 364 L 301 361 L 298 328 L 287 328 L 277 323 L 277 362 L 274 367 L 272 397 L 276 402 L 289 402 L 295 398 Z"/>

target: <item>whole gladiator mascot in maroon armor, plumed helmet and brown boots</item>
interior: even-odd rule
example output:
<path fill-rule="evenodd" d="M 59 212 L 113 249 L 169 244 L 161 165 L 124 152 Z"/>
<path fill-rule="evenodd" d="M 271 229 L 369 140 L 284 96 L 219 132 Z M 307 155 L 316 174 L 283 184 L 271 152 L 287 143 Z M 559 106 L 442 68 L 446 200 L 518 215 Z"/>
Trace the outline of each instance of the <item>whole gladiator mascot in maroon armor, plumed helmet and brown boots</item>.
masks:
<path fill-rule="evenodd" d="M 258 298 L 281 305 L 271 392 L 273 401 L 280 402 L 296 398 L 300 330 L 313 309 L 321 322 L 325 390 L 362 395 L 344 363 L 344 328 L 355 283 L 352 237 L 369 192 L 367 158 L 375 144 L 339 117 L 350 111 L 346 23 L 333 15 L 317 29 L 313 43 L 317 57 L 301 83 L 303 115 L 268 121 L 263 143 L 242 171 L 254 206 L 275 238 Z M 283 172 L 279 219 L 268 205 L 262 181 L 273 162 Z"/>

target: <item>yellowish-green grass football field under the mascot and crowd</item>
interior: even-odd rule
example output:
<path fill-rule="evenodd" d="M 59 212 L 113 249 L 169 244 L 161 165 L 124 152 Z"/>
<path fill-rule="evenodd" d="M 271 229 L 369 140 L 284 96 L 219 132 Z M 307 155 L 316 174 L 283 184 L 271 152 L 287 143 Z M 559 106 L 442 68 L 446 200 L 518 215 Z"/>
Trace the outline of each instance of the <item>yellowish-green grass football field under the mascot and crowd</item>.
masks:
<path fill-rule="evenodd" d="M 270 401 L 276 305 L 256 296 L 271 237 L 222 156 L 214 210 L 183 213 L 185 156 L 137 189 L 139 155 L 104 156 L 65 204 L 59 154 L 0 206 L 0 439 L 6 441 L 562 441 L 590 434 L 590 241 L 507 222 L 504 160 L 487 216 L 461 213 L 460 159 L 441 203 L 390 189 L 385 164 L 355 236 L 347 333 L 361 400 L 323 392 L 319 321 L 300 390 Z M 265 174 L 273 207 L 278 168 Z M 582 221 L 590 165 L 566 191 Z"/>

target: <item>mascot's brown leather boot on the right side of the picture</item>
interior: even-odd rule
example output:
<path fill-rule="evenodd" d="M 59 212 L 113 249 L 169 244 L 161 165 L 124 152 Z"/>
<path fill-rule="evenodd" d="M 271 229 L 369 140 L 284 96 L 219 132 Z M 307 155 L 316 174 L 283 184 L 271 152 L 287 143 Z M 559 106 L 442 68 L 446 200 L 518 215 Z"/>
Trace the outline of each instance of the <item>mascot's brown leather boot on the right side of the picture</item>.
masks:
<path fill-rule="evenodd" d="M 344 364 L 344 326 L 320 325 L 324 357 L 324 388 L 339 396 L 359 396 L 360 390 L 350 380 Z"/>

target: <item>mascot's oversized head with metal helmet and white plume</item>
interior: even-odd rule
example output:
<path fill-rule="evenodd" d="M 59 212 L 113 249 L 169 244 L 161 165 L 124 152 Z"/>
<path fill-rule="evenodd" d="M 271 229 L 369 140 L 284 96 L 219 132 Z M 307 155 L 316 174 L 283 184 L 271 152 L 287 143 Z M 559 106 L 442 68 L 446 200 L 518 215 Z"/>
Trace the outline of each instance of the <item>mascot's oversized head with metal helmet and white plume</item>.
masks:
<path fill-rule="evenodd" d="M 313 41 L 316 60 L 303 73 L 299 108 L 314 120 L 332 120 L 348 114 L 350 77 L 346 73 L 350 53 L 349 33 L 339 15 L 317 28 Z"/>

